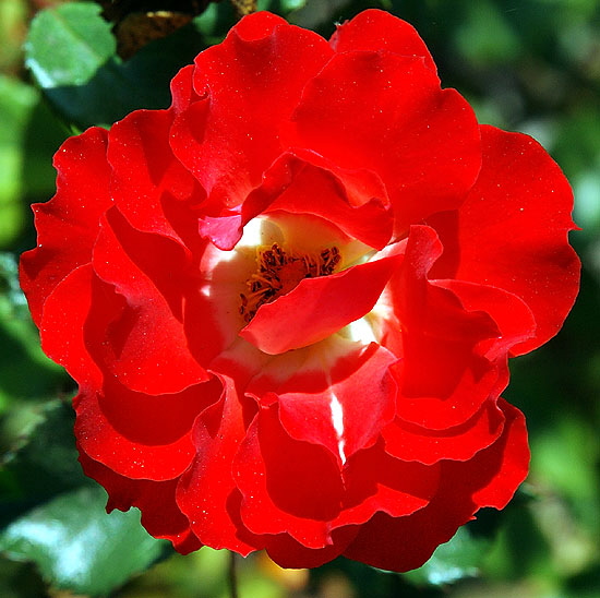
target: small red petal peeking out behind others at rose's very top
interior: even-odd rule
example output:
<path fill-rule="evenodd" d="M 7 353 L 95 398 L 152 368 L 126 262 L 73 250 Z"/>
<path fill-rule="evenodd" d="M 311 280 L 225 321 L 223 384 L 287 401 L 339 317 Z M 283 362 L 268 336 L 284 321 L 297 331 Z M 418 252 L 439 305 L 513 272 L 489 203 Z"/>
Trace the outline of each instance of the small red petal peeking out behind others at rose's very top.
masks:
<path fill-rule="evenodd" d="M 418 56 L 435 72 L 435 63 L 417 29 L 387 11 L 365 10 L 337 26 L 329 44 L 336 52 L 387 50 L 400 56 Z"/>

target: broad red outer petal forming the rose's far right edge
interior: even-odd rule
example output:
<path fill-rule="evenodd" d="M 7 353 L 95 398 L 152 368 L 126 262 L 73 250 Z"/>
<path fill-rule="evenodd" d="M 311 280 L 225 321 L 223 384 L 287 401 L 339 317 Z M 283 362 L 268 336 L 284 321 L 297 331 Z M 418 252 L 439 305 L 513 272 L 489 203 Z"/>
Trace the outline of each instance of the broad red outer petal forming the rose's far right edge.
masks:
<path fill-rule="evenodd" d="M 447 252 L 432 275 L 497 286 L 533 312 L 528 352 L 554 336 L 578 289 L 579 260 L 568 246 L 573 193 L 532 139 L 481 127 L 483 167 L 457 213 L 431 219 Z"/>

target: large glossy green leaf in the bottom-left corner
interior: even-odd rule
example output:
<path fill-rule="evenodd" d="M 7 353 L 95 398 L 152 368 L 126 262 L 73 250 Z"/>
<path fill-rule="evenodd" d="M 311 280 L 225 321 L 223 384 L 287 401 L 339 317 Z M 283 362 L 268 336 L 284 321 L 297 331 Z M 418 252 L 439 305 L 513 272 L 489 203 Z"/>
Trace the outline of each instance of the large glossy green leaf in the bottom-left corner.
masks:
<path fill-rule="evenodd" d="M 99 487 L 62 494 L 11 524 L 0 550 L 34 561 L 58 588 L 106 596 L 154 563 L 166 542 L 144 531 L 136 511 L 107 515 L 105 503 Z"/>

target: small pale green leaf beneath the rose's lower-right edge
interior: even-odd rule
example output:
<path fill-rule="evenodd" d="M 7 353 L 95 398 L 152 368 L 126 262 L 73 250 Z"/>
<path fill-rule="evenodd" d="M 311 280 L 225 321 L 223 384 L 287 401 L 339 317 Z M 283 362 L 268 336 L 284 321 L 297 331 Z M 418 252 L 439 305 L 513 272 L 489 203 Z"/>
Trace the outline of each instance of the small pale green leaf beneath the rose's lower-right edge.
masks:
<path fill-rule="evenodd" d="M 479 563 L 490 547 L 490 539 L 476 536 L 463 526 L 445 545 L 440 546 L 431 559 L 420 569 L 403 576 L 417 585 L 443 586 L 475 577 L 479 573 Z"/>

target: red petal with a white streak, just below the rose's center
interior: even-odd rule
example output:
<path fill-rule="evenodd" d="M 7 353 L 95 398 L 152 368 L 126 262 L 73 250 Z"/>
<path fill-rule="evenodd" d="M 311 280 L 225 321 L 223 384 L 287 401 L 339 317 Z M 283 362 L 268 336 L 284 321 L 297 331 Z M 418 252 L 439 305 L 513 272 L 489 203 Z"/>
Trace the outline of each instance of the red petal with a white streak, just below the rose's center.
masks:
<path fill-rule="evenodd" d="M 296 440 L 326 446 L 343 465 L 394 418 L 396 387 L 388 368 L 397 358 L 375 343 L 338 343 L 315 347 L 285 382 L 275 382 L 266 368 L 248 392 L 269 387 L 284 429 Z"/>

